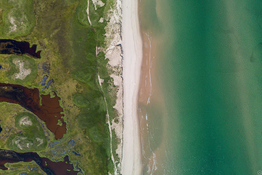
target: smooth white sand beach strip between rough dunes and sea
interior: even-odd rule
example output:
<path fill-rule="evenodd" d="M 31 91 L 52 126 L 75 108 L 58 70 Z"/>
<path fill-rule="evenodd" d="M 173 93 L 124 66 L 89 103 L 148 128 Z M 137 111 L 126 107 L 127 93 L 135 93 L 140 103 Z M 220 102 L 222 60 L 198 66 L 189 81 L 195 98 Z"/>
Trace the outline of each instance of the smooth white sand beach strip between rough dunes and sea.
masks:
<path fill-rule="evenodd" d="M 138 0 L 122 0 L 123 150 L 122 175 L 141 175 L 138 90 L 142 66 L 142 39 Z"/>

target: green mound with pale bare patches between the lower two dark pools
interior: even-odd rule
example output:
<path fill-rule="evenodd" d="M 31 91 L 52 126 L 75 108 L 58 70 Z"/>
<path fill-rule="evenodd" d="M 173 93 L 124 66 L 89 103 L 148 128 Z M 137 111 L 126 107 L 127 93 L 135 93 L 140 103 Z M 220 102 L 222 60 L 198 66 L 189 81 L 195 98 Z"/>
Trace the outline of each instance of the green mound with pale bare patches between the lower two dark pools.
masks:
<path fill-rule="evenodd" d="M 44 131 L 31 113 L 18 114 L 15 117 L 15 127 L 22 129 L 23 132 L 8 138 L 7 145 L 10 149 L 28 152 L 43 150 L 47 146 Z"/>

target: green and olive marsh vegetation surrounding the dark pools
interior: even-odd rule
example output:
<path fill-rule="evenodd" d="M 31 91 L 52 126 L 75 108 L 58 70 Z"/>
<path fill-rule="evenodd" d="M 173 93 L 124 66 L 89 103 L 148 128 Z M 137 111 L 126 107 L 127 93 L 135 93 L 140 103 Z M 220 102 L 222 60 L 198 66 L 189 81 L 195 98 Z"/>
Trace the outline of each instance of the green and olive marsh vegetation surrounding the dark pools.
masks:
<path fill-rule="evenodd" d="M 114 0 L 102 0 L 105 5 L 97 6 L 96 10 L 92 1 L 89 0 L 92 26 L 89 25 L 87 19 L 87 0 L 28 0 L 25 2 L 19 0 L 17 3 L 20 5 L 17 6 L 9 1 L 0 1 L 0 36 L 27 40 L 30 44 L 37 44 L 37 50 L 42 50 L 42 52 L 39 60 L 27 56 L 0 55 L 0 65 L 3 67 L 0 69 L 0 82 L 36 87 L 41 94 L 55 91 L 61 98 L 60 105 L 64 109 L 67 122 L 67 133 L 60 140 L 55 140 L 54 135 L 46 127 L 43 127 L 44 132 L 39 130 L 37 132 L 37 134 L 41 133 L 39 138 L 47 138 L 48 144 L 45 143 L 45 149 L 42 147 L 35 151 L 41 157 L 47 157 L 52 161 L 61 161 L 65 155 L 69 155 L 74 166 L 78 165 L 88 175 L 104 175 L 109 172 L 113 174 L 114 165 L 110 154 L 110 137 L 106 123 L 104 97 L 107 100 L 108 112 L 114 117 L 113 106 L 116 97 L 109 91 L 116 89 L 106 68 L 108 60 L 105 60 L 105 55 L 102 52 L 96 55 L 96 47 L 105 46 L 106 15 Z M 24 22 L 24 27 L 19 27 L 16 24 L 17 30 L 24 30 L 24 32 L 11 33 L 8 14 L 13 8 L 19 11 L 20 7 L 26 5 L 29 8 L 20 9 L 22 15 L 18 12 L 12 13 L 12 15 L 16 19 L 15 21 L 19 22 L 24 19 L 23 15 L 30 16 L 32 13 L 33 19 L 27 17 L 31 23 Z M 101 17 L 104 18 L 102 23 L 98 22 Z M 19 71 L 19 67 L 13 62 L 16 59 L 24 62 L 24 69 L 31 70 L 31 73 L 23 80 L 14 79 L 14 74 Z M 99 87 L 98 72 L 100 77 L 104 79 L 104 83 L 102 83 L 104 94 Z M 45 82 L 43 81 L 44 75 L 48 76 Z M 47 82 L 52 79 L 54 82 L 47 87 Z M 4 107 L 8 109 L 5 110 Z M 3 114 L 0 114 L 0 125 L 11 126 L 9 132 L 4 132 L 9 138 L 8 147 L 25 152 L 27 143 L 32 142 L 35 145 L 37 142 L 33 141 L 35 141 L 36 135 L 33 135 L 32 127 L 40 126 L 41 128 L 39 124 L 41 121 L 32 121 L 35 125 L 30 125 L 30 127 L 18 126 L 17 122 L 14 122 L 18 121 L 14 116 L 20 116 L 17 114 L 27 112 L 27 110 L 19 105 L 7 103 L 0 103 L 1 109 Z M 2 124 L 2 122 L 5 123 Z M 43 133 L 44 135 L 42 135 Z M 0 137 L 1 135 L 2 133 Z M 27 139 L 22 140 L 21 137 Z M 116 140 L 115 137 L 113 139 Z M 6 140 L 0 140 L 1 148 L 8 148 Z M 17 140 L 24 141 L 23 144 L 20 144 L 24 146 L 23 150 L 17 144 L 13 144 L 12 140 L 14 140 L 13 143 Z M 22 166 L 18 169 L 21 171 L 13 172 L 24 171 Z M 8 170 L 9 172 L 11 171 Z"/>

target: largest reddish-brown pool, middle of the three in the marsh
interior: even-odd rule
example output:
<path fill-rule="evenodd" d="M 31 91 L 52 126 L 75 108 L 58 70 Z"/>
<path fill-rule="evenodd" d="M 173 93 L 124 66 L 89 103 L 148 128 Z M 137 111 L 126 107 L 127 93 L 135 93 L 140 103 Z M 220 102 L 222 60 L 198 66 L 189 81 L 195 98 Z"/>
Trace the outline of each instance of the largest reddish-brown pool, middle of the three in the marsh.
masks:
<path fill-rule="evenodd" d="M 37 88 L 27 88 L 21 85 L 0 83 L 0 102 L 19 104 L 33 112 L 38 118 L 46 123 L 47 128 L 54 133 L 55 139 L 61 139 L 66 133 L 66 122 L 62 118 L 63 108 L 59 104 L 60 98 L 54 92 L 55 97 L 50 94 L 41 95 Z M 58 125 L 60 120 L 61 126 Z"/>

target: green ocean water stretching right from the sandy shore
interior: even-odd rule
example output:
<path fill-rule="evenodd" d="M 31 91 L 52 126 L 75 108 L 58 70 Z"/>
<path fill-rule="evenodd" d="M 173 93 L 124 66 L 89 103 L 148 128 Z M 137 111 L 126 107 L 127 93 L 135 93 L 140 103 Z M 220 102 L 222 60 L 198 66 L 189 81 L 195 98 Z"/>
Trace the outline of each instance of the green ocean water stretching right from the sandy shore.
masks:
<path fill-rule="evenodd" d="M 141 0 L 140 16 L 143 175 L 262 175 L 262 0 Z"/>

